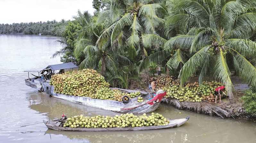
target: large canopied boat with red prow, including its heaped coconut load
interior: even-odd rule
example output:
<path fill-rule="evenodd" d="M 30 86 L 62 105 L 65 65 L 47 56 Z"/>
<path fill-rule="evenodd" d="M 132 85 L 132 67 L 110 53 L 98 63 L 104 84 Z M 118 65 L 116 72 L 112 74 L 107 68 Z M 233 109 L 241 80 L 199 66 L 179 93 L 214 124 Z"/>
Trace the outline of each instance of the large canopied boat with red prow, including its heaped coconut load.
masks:
<path fill-rule="evenodd" d="M 30 72 L 38 72 L 38 76 L 29 77 L 25 82 L 50 97 L 122 113 L 152 112 L 166 95 L 166 92 L 159 90 L 151 98 L 148 92 L 110 88 L 110 84 L 96 70 L 78 71 L 73 68 L 77 66 L 71 62 L 49 65 L 42 71 L 24 71 L 29 75 Z M 59 74 L 56 73 L 58 70 Z"/>

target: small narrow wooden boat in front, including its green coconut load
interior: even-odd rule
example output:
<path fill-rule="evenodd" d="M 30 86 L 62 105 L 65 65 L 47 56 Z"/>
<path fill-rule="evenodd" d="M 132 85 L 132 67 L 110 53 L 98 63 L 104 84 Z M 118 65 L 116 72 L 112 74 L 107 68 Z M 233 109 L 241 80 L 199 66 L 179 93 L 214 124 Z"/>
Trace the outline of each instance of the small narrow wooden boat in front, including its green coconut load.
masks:
<path fill-rule="evenodd" d="M 145 113 L 141 116 L 126 113 L 113 117 L 77 115 L 66 118 L 64 115 L 61 119 L 44 121 L 44 123 L 49 129 L 63 131 L 131 131 L 178 127 L 188 119 L 189 117 L 175 120 L 166 119 L 162 115 L 152 112 L 149 116 L 146 116 Z"/>

